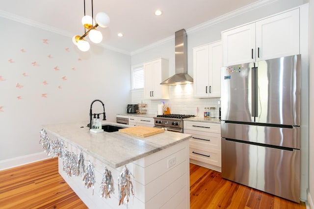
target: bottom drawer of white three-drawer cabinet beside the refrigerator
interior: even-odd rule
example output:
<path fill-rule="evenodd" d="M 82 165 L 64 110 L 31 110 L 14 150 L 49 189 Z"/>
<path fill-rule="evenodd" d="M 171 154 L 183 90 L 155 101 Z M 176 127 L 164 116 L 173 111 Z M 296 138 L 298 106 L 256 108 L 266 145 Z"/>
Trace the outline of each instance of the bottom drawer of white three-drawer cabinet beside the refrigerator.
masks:
<path fill-rule="evenodd" d="M 210 152 L 189 148 L 190 159 L 221 167 L 221 152 Z"/>

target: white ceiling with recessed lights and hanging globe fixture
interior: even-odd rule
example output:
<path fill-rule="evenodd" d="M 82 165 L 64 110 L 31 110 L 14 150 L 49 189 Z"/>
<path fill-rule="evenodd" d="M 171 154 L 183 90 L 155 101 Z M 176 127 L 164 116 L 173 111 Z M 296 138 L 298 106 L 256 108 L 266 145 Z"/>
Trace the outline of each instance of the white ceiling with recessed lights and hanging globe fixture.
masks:
<path fill-rule="evenodd" d="M 98 27 L 104 35 L 102 44 L 131 53 L 257 1 L 262 0 L 94 0 L 93 8 L 94 16 L 105 12 L 110 17 L 109 27 Z M 91 0 L 85 0 L 85 7 L 86 15 L 91 15 Z M 156 9 L 163 15 L 156 16 Z M 84 0 L 6 0 L 0 12 L 45 24 L 69 37 L 84 32 Z M 125 36 L 118 37 L 119 32 Z"/>

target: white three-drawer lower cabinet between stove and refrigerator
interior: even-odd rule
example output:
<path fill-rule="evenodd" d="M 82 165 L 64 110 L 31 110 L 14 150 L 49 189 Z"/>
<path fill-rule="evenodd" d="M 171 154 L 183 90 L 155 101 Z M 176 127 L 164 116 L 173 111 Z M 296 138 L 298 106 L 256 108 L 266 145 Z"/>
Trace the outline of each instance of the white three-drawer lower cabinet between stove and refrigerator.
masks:
<path fill-rule="evenodd" d="M 219 123 L 183 121 L 183 133 L 191 134 L 190 163 L 221 172 L 221 134 Z"/>

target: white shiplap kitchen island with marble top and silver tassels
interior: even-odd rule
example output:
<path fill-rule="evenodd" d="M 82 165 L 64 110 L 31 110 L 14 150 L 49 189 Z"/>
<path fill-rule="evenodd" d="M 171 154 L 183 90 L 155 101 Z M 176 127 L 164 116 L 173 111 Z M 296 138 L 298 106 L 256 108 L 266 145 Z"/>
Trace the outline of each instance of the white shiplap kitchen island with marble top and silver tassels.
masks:
<path fill-rule="evenodd" d="M 95 167 L 96 183 L 86 188 L 82 177 L 68 177 L 59 159 L 59 173 L 88 208 L 189 208 L 189 147 L 191 135 L 164 132 L 134 137 L 120 132 L 91 133 L 87 122 L 44 125 L 51 138 L 64 141 L 66 149 Z M 121 124 L 103 122 L 103 124 Z M 127 125 L 123 125 L 128 127 Z M 133 175 L 134 197 L 119 204 L 118 176 L 124 165 Z M 115 191 L 111 198 L 100 197 L 99 186 L 105 166 L 111 171 Z"/>

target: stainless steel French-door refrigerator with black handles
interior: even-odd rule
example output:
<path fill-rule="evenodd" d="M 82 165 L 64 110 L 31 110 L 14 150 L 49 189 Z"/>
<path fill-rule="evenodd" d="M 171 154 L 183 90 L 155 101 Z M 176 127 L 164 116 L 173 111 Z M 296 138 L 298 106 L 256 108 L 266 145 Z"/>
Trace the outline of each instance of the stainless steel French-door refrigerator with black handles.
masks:
<path fill-rule="evenodd" d="M 221 69 L 222 177 L 300 202 L 301 55 Z"/>

